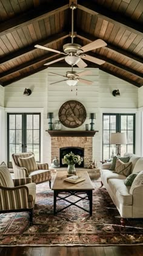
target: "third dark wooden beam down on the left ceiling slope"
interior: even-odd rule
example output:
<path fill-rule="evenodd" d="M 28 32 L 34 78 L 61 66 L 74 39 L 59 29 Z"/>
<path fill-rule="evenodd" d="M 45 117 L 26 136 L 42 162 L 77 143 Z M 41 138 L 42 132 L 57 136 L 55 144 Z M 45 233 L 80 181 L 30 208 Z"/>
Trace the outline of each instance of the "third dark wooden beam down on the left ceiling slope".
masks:
<path fill-rule="evenodd" d="M 42 55 L 42 57 L 38 57 L 34 60 L 30 60 L 29 62 L 25 62 L 19 66 L 16 66 L 15 68 L 9 69 L 8 71 L 1 73 L 0 79 L 3 79 L 4 77 L 7 77 L 7 76 L 11 76 L 12 74 L 15 74 L 16 72 L 20 72 L 20 71 L 24 70 L 25 68 L 30 68 L 30 66 L 33 66 L 35 64 L 39 64 L 41 62 L 47 63 L 48 61 L 52 61 L 53 58 L 60 58 L 60 57 L 63 57 L 63 55 L 57 54 L 57 53 L 55 53 L 55 54 L 48 53 L 48 54 Z M 43 64 L 45 64 L 45 63 L 43 63 Z"/>

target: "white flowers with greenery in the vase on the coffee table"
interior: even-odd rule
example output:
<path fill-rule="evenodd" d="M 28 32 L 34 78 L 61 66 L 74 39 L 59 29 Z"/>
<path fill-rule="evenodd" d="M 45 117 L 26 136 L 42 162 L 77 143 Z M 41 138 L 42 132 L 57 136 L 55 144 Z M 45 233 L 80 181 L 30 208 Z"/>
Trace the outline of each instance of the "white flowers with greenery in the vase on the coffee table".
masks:
<path fill-rule="evenodd" d="M 73 152 L 64 155 L 64 163 L 67 163 L 67 165 L 75 165 L 76 163 L 78 163 L 78 165 L 81 165 L 82 161 L 83 157 L 80 157 L 80 155 L 75 155 L 73 154 Z"/>

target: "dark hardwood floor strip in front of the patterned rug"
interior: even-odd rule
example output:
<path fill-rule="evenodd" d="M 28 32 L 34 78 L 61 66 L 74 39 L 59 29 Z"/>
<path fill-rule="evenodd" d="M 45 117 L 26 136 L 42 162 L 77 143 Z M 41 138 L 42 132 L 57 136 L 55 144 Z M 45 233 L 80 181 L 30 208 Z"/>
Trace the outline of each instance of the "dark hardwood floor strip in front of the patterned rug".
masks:
<path fill-rule="evenodd" d="M 0 247 L 1 256 L 141 256 L 143 246 Z"/>

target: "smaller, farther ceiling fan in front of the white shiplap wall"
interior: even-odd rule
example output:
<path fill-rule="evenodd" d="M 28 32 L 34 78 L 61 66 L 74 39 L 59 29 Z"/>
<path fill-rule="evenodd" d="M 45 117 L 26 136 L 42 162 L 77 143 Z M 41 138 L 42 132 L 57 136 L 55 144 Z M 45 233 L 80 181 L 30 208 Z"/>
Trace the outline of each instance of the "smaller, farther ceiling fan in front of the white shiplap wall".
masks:
<path fill-rule="evenodd" d="M 49 73 L 55 74 L 56 76 L 62 76 L 61 74 L 56 74 L 53 72 L 49 72 Z M 65 81 L 67 83 L 67 85 L 70 85 L 70 86 L 75 86 L 78 82 L 82 82 L 84 84 L 91 85 L 91 84 L 93 84 L 92 81 L 81 78 L 82 76 L 86 76 L 88 74 L 91 74 L 91 71 L 85 70 L 80 73 L 76 73 L 75 71 L 73 71 L 73 66 L 71 66 L 71 71 L 67 71 L 66 75 L 62 76 L 62 77 L 66 77 L 67 79 L 51 83 L 50 85 L 59 84 L 60 82 L 63 82 L 63 81 Z"/>

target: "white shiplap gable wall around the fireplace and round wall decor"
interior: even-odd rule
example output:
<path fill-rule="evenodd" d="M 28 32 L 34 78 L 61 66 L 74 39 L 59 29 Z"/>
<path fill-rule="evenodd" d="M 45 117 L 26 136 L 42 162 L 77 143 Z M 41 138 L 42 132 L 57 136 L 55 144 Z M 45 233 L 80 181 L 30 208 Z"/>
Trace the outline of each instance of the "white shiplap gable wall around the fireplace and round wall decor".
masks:
<path fill-rule="evenodd" d="M 43 108 L 43 160 L 50 163 L 50 136 L 45 130 L 48 129 L 47 112 L 54 113 L 54 120 L 58 119 L 58 111 L 61 105 L 68 100 L 76 100 L 82 102 L 87 110 L 87 119 L 85 123 L 79 127 L 79 130 L 85 130 L 85 124 L 90 124 L 88 118 L 89 113 L 96 113 L 95 129 L 99 130 L 93 138 L 93 158 L 101 160 L 101 141 L 102 141 L 102 122 L 100 116 L 101 108 L 136 108 L 138 107 L 138 88 L 118 79 L 114 76 L 106 74 L 99 69 L 90 69 L 92 74 L 83 77 L 87 80 L 93 80 L 93 85 L 85 85 L 78 83 L 78 95 L 76 96 L 76 87 L 70 91 L 70 87 L 61 82 L 50 85 L 52 82 L 64 80 L 65 77 L 50 74 L 50 72 L 58 73 L 65 76 L 65 71 L 71 68 L 48 68 L 33 76 L 19 80 L 12 85 L 5 87 L 5 107 L 13 108 Z M 74 71 L 82 71 L 83 69 L 74 68 Z M 32 94 L 28 97 L 23 96 L 24 89 L 30 88 Z M 111 92 L 119 89 L 121 96 L 113 97 Z M 30 111 L 30 109 L 29 109 Z M 90 126 L 89 126 L 90 127 Z M 67 129 L 62 126 L 62 129 Z"/>

